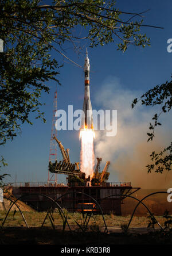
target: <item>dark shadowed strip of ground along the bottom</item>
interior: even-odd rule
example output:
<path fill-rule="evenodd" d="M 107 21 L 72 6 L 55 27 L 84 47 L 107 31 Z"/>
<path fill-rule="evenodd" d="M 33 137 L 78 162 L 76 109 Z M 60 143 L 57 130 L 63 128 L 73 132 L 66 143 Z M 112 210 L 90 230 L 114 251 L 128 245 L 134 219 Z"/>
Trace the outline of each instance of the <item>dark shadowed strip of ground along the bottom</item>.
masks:
<path fill-rule="evenodd" d="M 50 228 L 3 228 L 0 244 L 172 244 L 172 234 L 153 231 L 148 234 L 123 234 L 110 232 L 76 232 L 52 230 Z"/>

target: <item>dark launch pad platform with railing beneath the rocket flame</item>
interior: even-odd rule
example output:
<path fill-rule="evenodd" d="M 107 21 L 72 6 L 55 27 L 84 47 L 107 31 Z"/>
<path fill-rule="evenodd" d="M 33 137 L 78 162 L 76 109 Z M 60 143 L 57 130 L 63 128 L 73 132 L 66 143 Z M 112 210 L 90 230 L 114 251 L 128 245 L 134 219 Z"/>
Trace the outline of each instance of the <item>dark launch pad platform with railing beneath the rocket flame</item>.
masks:
<path fill-rule="evenodd" d="M 127 194 L 132 194 L 140 188 L 132 188 L 130 182 L 114 182 L 103 186 L 67 186 L 64 184 L 14 184 L 12 193 L 15 197 L 23 196 L 22 201 L 37 209 L 46 211 L 53 207 L 52 201 L 41 195 L 51 197 L 57 201 L 61 208 L 69 212 L 94 212 L 100 213 L 95 200 L 100 205 L 103 213 L 114 212 L 115 215 L 122 215 L 121 205 Z M 59 200 L 58 200 L 59 198 Z M 55 205 L 54 205 L 55 207 Z"/>

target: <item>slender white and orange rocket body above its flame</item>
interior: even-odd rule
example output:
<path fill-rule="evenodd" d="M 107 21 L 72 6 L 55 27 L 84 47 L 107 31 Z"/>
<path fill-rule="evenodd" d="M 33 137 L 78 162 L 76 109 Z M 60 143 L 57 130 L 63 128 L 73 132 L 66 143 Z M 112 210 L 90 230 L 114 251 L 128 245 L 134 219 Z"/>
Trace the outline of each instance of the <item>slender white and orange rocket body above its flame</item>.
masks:
<path fill-rule="evenodd" d="M 84 103 L 83 103 L 83 115 L 81 117 L 81 130 L 82 129 L 93 129 L 93 117 L 92 117 L 92 106 L 90 101 L 89 93 L 89 59 L 88 51 L 86 50 L 86 58 L 84 63 L 84 76 L 85 76 L 85 91 L 84 91 Z"/>

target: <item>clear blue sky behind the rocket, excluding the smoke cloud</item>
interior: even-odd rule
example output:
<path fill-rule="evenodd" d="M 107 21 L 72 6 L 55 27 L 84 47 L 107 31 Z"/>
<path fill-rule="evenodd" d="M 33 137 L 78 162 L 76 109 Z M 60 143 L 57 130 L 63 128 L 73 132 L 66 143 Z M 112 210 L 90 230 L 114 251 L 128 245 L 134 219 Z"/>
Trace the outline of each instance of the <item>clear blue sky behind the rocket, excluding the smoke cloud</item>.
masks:
<path fill-rule="evenodd" d="M 101 109 L 105 106 L 103 101 L 97 101 L 97 95 L 99 94 L 99 97 L 103 98 L 103 87 L 107 79 L 111 79 L 111 81 L 117 79 L 119 81 L 118 89 L 120 89 L 118 93 L 119 91 L 130 91 L 130 95 L 133 93 L 134 98 L 135 95 L 139 97 L 142 92 L 170 80 L 171 77 L 172 53 L 167 52 L 167 39 L 172 38 L 172 2 L 170 0 L 123 0 L 116 2 L 119 9 L 126 12 L 139 13 L 143 10 L 151 9 L 144 14 L 144 24 L 163 26 L 165 29 L 146 27 L 142 29 L 142 32 L 146 33 L 147 37 L 150 37 L 151 47 L 141 48 L 131 45 L 125 53 L 116 51 L 115 43 L 104 45 L 103 47 L 88 48 L 91 64 L 90 90 L 92 109 Z M 83 45 L 88 47 L 88 42 L 84 42 Z M 56 52 L 52 52 L 52 55 L 62 63 L 60 55 Z M 67 56 L 80 66 L 83 66 L 85 48 L 78 55 L 71 47 L 67 51 Z M 67 110 L 68 105 L 73 105 L 73 110 L 82 109 L 84 97 L 83 70 L 65 60 L 64 67 L 60 68 L 59 71 L 58 79 L 61 82 L 61 86 L 57 86 L 58 109 Z M 32 126 L 29 124 L 22 125 L 21 135 L 18 135 L 13 142 L 8 142 L 5 147 L 1 148 L 1 155 L 4 156 L 9 164 L 6 167 L 6 173 L 11 174 L 11 177 L 6 179 L 9 182 L 14 181 L 15 174 L 17 174 L 18 182 L 45 182 L 47 179 L 53 94 L 56 83 L 48 82 L 47 85 L 50 86 L 50 94 L 43 94 L 41 98 L 41 101 L 46 104 L 42 107 L 47 120 L 46 124 L 41 120 L 34 120 Z M 115 95 L 115 91 L 113 93 Z M 108 107 L 108 104 L 105 107 Z M 131 104 L 128 105 L 128 108 L 131 108 Z M 117 108 L 117 110 L 120 113 L 120 109 Z M 148 108 L 143 111 L 147 112 L 149 110 Z M 30 117 L 33 119 L 33 116 Z M 168 117 L 168 121 L 165 120 L 167 125 L 162 126 L 161 132 L 166 132 L 166 129 L 170 131 L 170 118 L 171 116 Z M 79 132 L 59 131 L 58 139 L 65 148 L 71 149 L 69 152 L 71 161 L 79 161 Z M 61 159 L 60 150 L 58 150 L 59 159 Z M 105 159 L 105 161 L 108 161 L 108 159 Z M 114 181 L 115 179 L 115 181 L 118 181 L 119 175 L 115 174 L 115 170 L 111 170 L 111 172 L 110 180 Z M 64 177 L 58 175 L 58 181 L 63 180 L 65 181 Z"/>

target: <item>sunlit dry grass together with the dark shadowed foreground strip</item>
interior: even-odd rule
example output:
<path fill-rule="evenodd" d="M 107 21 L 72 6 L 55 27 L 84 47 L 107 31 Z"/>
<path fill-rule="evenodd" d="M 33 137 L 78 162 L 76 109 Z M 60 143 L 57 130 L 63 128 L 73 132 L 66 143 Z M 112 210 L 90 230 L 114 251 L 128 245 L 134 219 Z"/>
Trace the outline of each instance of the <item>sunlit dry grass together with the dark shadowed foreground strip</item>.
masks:
<path fill-rule="evenodd" d="M 131 216 L 104 215 L 108 234 L 104 232 L 104 222 L 100 215 L 91 217 L 88 230 L 83 232 L 79 225 L 83 224 L 81 213 L 68 213 L 68 223 L 64 224 L 58 212 L 53 213 L 54 230 L 47 218 L 41 228 L 46 212 L 23 212 L 29 228 L 19 212 L 10 212 L 0 232 L 0 244 L 172 244 L 172 232 L 162 232 L 157 224 L 155 228 L 147 228 L 149 217 L 135 216 L 128 232 L 125 224 Z M 6 212 L 0 212 L 2 226 Z M 165 219 L 155 216 L 164 227 Z M 78 224 L 79 225 L 78 225 Z M 63 227 L 64 230 L 63 230 Z"/>

